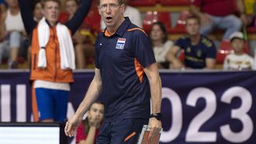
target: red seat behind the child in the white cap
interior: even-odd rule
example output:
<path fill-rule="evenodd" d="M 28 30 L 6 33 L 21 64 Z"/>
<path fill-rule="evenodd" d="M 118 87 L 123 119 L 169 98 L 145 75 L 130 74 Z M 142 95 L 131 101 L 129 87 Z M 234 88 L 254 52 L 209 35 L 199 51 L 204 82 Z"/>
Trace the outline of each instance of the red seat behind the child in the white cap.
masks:
<path fill-rule="evenodd" d="M 223 63 L 225 57 L 229 53 L 234 53 L 234 50 L 232 50 L 232 47 L 230 45 L 230 41 L 223 40 L 220 43 L 219 50 L 217 50 L 216 63 Z M 249 44 L 248 44 L 248 42 L 245 42 L 245 44 L 244 44 L 244 53 L 249 53 Z"/>

